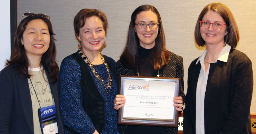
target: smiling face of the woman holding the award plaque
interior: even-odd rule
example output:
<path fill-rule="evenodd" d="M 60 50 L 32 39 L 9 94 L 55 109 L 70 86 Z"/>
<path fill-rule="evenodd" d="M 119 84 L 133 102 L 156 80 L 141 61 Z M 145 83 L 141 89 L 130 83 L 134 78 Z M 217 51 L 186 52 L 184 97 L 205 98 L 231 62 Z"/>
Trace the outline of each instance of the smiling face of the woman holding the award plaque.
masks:
<path fill-rule="evenodd" d="M 135 23 L 158 23 L 157 16 L 152 11 L 142 11 L 136 16 Z M 147 26 L 145 29 L 139 29 L 138 26 L 135 25 L 135 32 L 140 39 L 140 46 L 143 48 L 153 48 L 156 44 L 156 37 L 158 34 L 158 27 L 156 29 L 150 29 Z"/>

